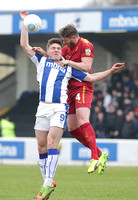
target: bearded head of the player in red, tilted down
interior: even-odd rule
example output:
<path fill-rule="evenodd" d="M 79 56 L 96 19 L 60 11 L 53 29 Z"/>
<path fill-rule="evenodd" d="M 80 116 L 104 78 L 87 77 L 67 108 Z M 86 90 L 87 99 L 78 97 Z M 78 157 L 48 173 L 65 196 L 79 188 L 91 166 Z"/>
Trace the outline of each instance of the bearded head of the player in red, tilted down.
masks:
<path fill-rule="evenodd" d="M 59 30 L 59 35 L 69 48 L 73 47 L 79 40 L 79 33 L 73 24 L 68 24 L 67 26 Z"/>

